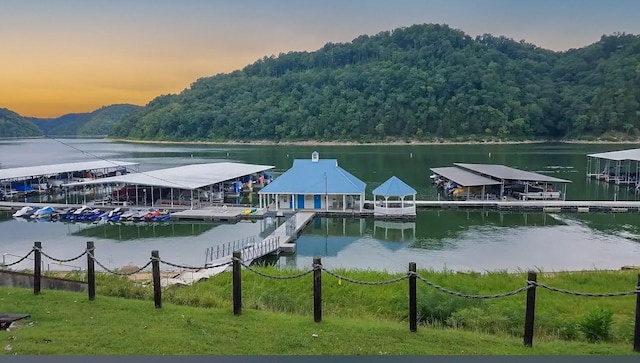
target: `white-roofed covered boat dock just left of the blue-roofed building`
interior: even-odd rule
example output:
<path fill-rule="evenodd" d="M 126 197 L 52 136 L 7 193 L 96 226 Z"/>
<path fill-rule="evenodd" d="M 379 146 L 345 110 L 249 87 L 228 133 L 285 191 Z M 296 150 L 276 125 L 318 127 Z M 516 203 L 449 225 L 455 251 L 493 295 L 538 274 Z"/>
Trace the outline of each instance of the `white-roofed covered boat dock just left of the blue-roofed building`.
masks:
<path fill-rule="evenodd" d="M 199 206 L 200 201 L 213 203 L 214 187 L 216 193 L 223 193 L 225 182 L 273 168 L 271 165 L 232 162 L 191 164 L 69 183 L 64 186 L 120 185 L 121 188 L 112 191 L 111 196 L 115 195 L 118 202 L 125 198 L 125 205 L 127 201 L 135 198 L 135 204 L 147 205 L 150 200 L 152 207 L 182 206 L 194 209 Z M 169 193 L 166 193 L 167 189 Z M 184 192 L 187 192 L 187 195 Z"/>

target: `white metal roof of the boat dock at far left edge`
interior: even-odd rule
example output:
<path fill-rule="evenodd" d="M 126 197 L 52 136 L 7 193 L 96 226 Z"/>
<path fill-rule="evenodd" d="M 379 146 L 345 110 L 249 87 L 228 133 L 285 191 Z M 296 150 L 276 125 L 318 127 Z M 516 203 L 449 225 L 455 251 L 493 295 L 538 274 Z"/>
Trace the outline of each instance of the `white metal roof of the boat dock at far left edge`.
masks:
<path fill-rule="evenodd" d="M 19 168 L 0 169 L 0 180 L 32 178 L 83 170 L 122 168 L 131 165 L 138 165 L 138 163 L 118 160 L 98 160 L 66 164 L 22 166 Z"/>

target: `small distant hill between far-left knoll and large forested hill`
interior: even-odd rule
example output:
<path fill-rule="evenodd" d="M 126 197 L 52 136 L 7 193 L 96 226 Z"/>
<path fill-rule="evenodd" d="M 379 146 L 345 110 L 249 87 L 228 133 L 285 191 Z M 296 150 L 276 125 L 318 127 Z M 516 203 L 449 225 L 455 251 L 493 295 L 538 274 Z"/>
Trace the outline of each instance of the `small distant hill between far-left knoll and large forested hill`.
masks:
<path fill-rule="evenodd" d="M 55 119 L 32 119 L 47 136 L 103 136 L 124 116 L 140 106 L 104 106 L 90 113 L 70 113 Z"/>

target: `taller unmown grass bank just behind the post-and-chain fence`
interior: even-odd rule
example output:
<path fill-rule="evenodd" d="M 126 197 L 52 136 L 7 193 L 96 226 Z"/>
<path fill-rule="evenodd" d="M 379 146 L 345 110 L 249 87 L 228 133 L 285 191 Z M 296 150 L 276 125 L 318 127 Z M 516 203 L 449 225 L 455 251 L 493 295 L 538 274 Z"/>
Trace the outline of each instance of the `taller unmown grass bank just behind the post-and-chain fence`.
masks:
<path fill-rule="evenodd" d="M 299 271 L 256 267 L 270 275 L 293 275 Z M 360 281 L 383 281 L 401 276 L 376 271 L 335 271 Z M 465 274 L 420 271 L 419 274 L 450 290 L 468 294 L 495 294 L 525 285 L 526 274 L 495 272 Z M 313 316 L 312 276 L 293 280 L 273 280 L 243 270 L 243 305 L 269 312 Z M 565 272 L 539 274 L 538 281 L 579 292 L 633 291 L 634 271 Z M 152 288 L 113 275 L 98 278 L 98 292 L 104 295 L 151 299 Z M 406 322 L 408 315 L 407 281 L 367 286 L 347 283 L 323 274 L 323 310 L 327 317 Z M 467 331 L 520 337 L 524 330 L 526 293 L 492 300 L 470 300 L 444 294 L 418 281 L 418 305 L 422 324 L 455 327 Z M 232 306 L 231 274 L 224 273 L 192 286 L 175 286 L 163 291 L 163 301 L 178 305 L 223 308 Z M 581 297 L 537 289 L 535 335 L 537 338 L 586 341 L 589 334 L 580 331 L 580 323 L 604 309 L 611 311 L 608 340 L 630 344 L 633 339 L 635 296 Z M 588 332 L 587 332 L 588 333 Z"/>

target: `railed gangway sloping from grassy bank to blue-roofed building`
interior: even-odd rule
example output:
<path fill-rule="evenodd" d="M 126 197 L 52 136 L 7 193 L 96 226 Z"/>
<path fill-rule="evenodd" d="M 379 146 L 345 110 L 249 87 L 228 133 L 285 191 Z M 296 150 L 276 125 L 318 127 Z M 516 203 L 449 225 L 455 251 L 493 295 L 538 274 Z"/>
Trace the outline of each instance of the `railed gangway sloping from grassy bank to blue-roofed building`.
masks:
<path fill-rule="evenodd" d="M 270 235 L 260 242 L 247 245 L 240 249 L 242 261 L 249 265 L 254 260 L 275 252 L 295 251 L 295 239 L 299 233 L 313 220 L 314 212 L 297 212 L 276 228 Z M 233 251 L 230 251 L 233 252 Z M 201 270 L 183 271 L 172 278 L 163 278 L 162 286 L 191 285 L 203 279 L 231 270 L 232 253 L 207 263 L 207 266 L 216 266 Z M 221 266 L 219 266 L 221 265 Z"/>

